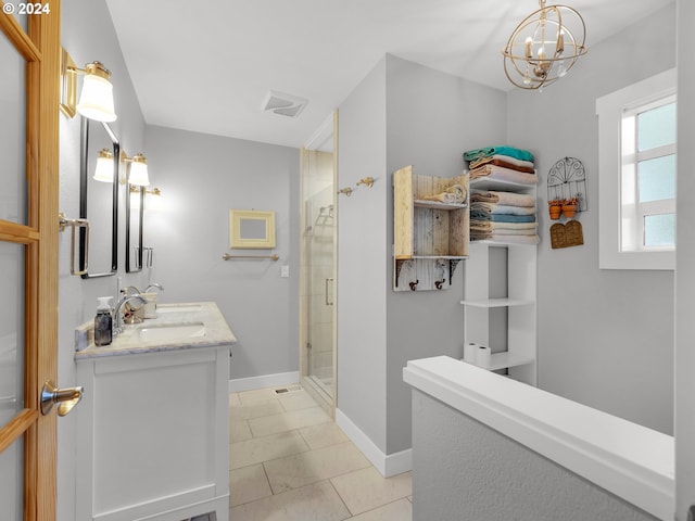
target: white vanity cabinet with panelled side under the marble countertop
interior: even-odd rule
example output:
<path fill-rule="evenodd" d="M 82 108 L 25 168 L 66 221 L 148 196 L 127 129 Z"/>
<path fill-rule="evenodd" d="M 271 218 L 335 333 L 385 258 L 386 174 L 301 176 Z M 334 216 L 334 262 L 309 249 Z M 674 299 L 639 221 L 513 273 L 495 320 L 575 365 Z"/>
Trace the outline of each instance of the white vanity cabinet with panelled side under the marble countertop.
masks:
<path fill-rule="evenodd" d="M 195 319 L 204 336 L 136 345 L 137 331 L 126 331 L 76 354 L 78 521 L 228 520 L 236 339 L 214 304 Z"/>

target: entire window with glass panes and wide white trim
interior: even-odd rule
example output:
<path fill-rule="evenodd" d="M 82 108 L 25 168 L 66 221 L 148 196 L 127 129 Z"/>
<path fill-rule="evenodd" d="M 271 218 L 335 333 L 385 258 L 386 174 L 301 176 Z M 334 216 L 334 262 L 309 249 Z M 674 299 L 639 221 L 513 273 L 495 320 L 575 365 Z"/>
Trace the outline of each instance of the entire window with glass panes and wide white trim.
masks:
<path fill-rule="evenodd" d="M 596 100 L 599 267 L 673 269 L 675 71 Z"/>

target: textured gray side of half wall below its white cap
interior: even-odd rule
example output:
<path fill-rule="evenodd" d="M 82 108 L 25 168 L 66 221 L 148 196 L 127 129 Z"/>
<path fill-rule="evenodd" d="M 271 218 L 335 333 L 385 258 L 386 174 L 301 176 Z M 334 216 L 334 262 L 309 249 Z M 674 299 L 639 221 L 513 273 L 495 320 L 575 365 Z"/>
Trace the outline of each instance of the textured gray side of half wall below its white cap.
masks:
<path fill-rule="evenodd" d="M 413 521 L 656 519 L 415 389 L 413 411 Z"/>

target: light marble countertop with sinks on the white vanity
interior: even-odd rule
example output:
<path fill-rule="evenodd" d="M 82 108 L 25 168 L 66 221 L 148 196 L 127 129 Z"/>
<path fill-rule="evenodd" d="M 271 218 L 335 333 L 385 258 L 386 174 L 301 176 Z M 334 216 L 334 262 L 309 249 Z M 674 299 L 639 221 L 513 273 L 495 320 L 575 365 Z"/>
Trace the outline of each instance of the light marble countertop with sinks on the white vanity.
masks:
<path fill-rule="evenodd" d="M 194 335 L 176 339 L 142 340 L 142 330 L 165 329 L 172 326 L 204 325 Z M 75 360 L 88 360 L 108 356 L 123 356 L 142 353 L 181 351 L 215 345 L 231 345 L 237 338 L 214 302 L 189 302 L 157 304 L 157 317 L 144 319 L 140 323 L 126 325 L 124 331 L 114 336 L 111 345 L 93 344 L 93 322 L 87 322 L 75 330 Z"/>

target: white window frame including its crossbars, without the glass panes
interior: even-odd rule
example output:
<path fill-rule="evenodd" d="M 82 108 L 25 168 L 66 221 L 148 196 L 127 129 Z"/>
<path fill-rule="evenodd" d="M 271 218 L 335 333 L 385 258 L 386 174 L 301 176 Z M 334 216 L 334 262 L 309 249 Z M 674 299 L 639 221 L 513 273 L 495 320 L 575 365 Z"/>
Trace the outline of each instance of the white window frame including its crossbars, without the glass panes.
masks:
<path fill-rule="evenodd" d="M 635 132 L 628 137 L 623 129 L 626 114 L 644 112 L 647 105 L 659 100 L 675 99 L 675 69 L 652 76 L 632 84 L 623 89 L 606 94 L 596 100 L 596 115 L 598 116 L 598 265 L 601 269 L 662 269 L 675 267 L 675 247 L 646 247 L 626 251 L 621 246 L 623 230 L 623 194 L 632 190 L 636 192 L 636 143 L 633 145 L 635 158 L 632 166 L 624 165 L 622 157 L 623 139 L 634 141 Z M 673 98 L 673 99 L 671 99 Z M 664 103 L 666 104 L 666 103 Z M 640 109 L 640 111 L 637 111 Z M 678 139 L 678 138 L 677 138 Z M 673 145 L 678 145 L 678 142 Z M 667 145 L 670 147 L 670 145 Z M 657 149 L 660 152 L 662 148 Z M 649 154 L 655 152 L 650 150 Z M 646 157 L 646 154 L 644 154 Z M 630 171 L 626 171 L 630 169 Z M 630 181 L 632 179 L 632 181 Z M 669 200 L 670 201 L 670 200 Z M 636 199 L 635 199 L 636 202 Z M 636 206 L 636 205 L 635 205 Z M 641 203 L 641 208 L 628 216 L 632 220 L 633 237 L 641 238 L 644 232 L 643 217 L 661 213 L 671 213 L 673 206 L 665 205 L 664 201 Z M 635 220 L 641 220 L 635 225 Z M 624 223 L 630 227 L 629 223 Z M 636 227 L 636 232 L 634 231 Z"/>

